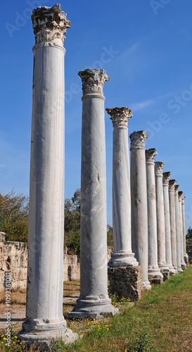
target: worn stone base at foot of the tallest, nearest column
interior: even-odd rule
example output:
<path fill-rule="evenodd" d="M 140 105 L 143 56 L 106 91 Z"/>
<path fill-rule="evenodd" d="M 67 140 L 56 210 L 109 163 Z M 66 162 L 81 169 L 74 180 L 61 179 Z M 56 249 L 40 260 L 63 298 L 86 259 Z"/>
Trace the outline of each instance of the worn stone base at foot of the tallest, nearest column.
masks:
<path fill-rule="evenodd" d="M 79 338 L 78 334 L 65 326 L 60 329 L 43 329 L 39 331 L 34 329 L 30 332 L 22 330 L 18 332 L 17 337 L 20 341 L 25 342 L 26 346 L 34 344 L 35 346 L 41 346 L 41 348 L 49 347 L 52 339 L 62 339 L 65 344 L 72 344 Z M 41 351 L 43 350 L 41 349 Z"/>

